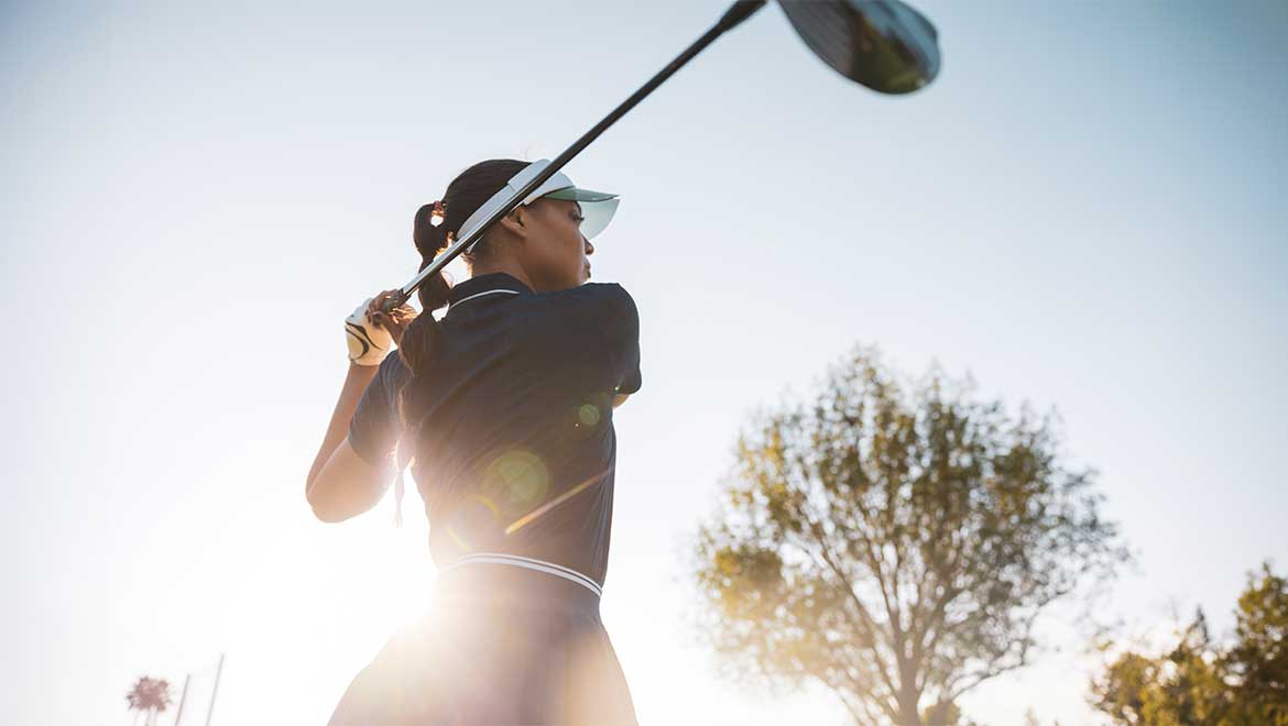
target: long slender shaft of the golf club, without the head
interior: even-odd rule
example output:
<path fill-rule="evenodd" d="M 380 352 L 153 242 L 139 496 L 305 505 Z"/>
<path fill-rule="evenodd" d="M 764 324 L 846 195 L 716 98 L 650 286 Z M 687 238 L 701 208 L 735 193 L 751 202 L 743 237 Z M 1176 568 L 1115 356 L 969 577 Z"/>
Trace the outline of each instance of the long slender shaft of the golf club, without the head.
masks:
<path fill-rule="evenodd" d="M 690 45 L 688 49 L 684 50 L 684 53 L 679 54 L 675 58 L 675 60 L 671 60 L 671 63 L 667 64 L 666 68 L 662 68 L 647 84 L 644 84 L 643 86 L 640 86 L 639 90 L 631 94 L 630 98 L 623 100 L 621 106 L 614 108 L 612 113 L 605 116 L 599 124 L 595 124 L 595 126 L 591 130 L 586 131 L 571 147 L 564 149 L 563 153 L 560 153 L 554 161 L 550 162 L 550 166 L 547 166 L 541 174 L 535 176 L 531 182 L 524 184 L 524 187 L 519 189 L 514 194 L 514 197 L 511 197 L 509 201 L 506 201 L 505 205 L 502 205 L 500 209 L 492 212 L 492 216 L 483 220 L 483 224 L 475 227 L 474 232 L 453 242 L 452 246 L 447 248 L 447 251 L 435 257 L 434 261 L 430 263 L 429 266 L 422 269 L 420 273 L 417 273 L 411 282 L 402 286 L 402 288 L 399 290 L 401 295 L 389 297 L 383 305 L 384 310 L 388 313 L 393 308 L 406 302 L 411 297 L 411 295 L 416 292 L 416 288 L 419 288 L 421 283 L 425 282 L 425 279 L 437 274 L 439 270 L 447 266 L 448 263 L 455 260 L 457 255 L 460 255 L 466 247 L 473 245 L 475 239 L 482 237 L 493 224 L 496 224 L 498 219 L 510 214 L 514 210 L 514 207 L 519 206 L 519 203 L 524 198 L 527 198 L 527 196 L 531 194 L 533 189 L 544 184 L 546 179 L 554 176 L 560 169 L 563 169 L 564 165 L 572 161 L 574 156 L 577 156 L 578 153 L 581 153 L 582 149 L 589 147 L 591 142 L 598 139 L 599 135 L 603 134 L 605 130 L 608 130 L 609 126 L 616 124 L 618 118 L 626 116 L 626 113 L 631 108 L 635 108 L 635 106 L 639 104 L 639 102 L 644 100 L 644 98 L 648 97 L 648 94 L 653 93 L 653 90 L 657 89 L 657 86 L 666 82 L 666 80 L 674 76 L 676 71 L 683 68 L 685 63 L 693 60 L 693 58 L 697 57 L 698 53 L 702 53 L 702 50 L 706 49 L 706 46 L 711 45 L 711 42 L 715 41 L 715 39 L 720 37 L 721 33 L 734 28 L 738 23 L 746 21 L 756 10 L 762 8 L 765 5 L 765 1 L 766 0 L 738 0 L 737 3 L 734 3 L 725 12 L 724 17 L 720 18 L 720 22 L 712 26 L 711 30 L 708 30 L 702 37 L 696 40 L 693 45 Z"/>

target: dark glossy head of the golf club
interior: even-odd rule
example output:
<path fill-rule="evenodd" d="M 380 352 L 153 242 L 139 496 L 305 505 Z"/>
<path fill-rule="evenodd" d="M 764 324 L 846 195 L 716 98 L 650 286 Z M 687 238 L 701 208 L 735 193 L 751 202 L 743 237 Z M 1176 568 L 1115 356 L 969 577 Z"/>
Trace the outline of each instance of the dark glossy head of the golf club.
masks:
<path fill-rule="evenodd" d="M 781 0 L 796 32 L 824 63 L 864 86 L 912 93 L 939 73 L 939 33 L 899 0 Z"/>

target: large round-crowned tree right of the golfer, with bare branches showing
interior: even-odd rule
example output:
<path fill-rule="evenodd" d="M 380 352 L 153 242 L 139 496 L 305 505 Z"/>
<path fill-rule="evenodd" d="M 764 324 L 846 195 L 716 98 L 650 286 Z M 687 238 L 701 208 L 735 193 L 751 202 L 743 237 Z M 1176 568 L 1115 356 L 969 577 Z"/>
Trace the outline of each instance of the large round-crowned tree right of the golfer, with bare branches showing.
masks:
<path fill-rule="evenodd" d="M 1028 663 L 1051 602 L 1127 557 L 1052 417 L 972 387 L 900 385 L 859 348 L 744 429 L 694 548 L 738 675 L 819 682 L 857 722 L 956 722 L 961 694 Z"/>

